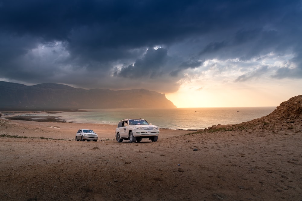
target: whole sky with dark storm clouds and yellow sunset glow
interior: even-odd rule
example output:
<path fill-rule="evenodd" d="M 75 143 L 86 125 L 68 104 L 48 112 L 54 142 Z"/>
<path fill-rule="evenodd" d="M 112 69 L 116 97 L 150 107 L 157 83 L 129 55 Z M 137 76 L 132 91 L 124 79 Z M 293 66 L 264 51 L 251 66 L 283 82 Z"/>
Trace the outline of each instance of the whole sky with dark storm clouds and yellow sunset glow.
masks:
<path fill-rule="evenodd" d="M 302 94 L 302 1 L 0 0 L 0 81 L 278 106 Z"/>

